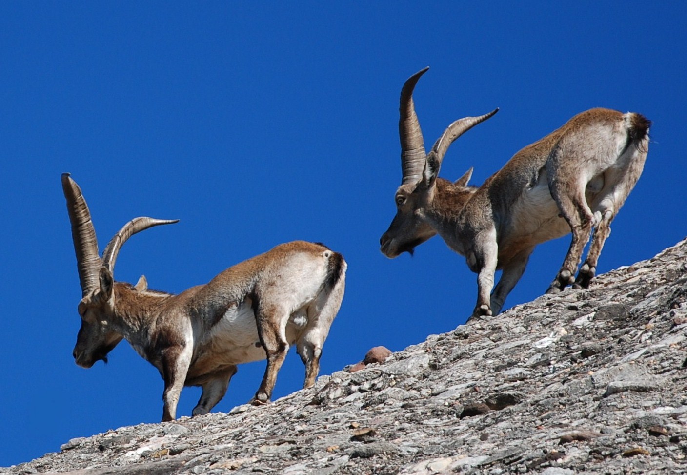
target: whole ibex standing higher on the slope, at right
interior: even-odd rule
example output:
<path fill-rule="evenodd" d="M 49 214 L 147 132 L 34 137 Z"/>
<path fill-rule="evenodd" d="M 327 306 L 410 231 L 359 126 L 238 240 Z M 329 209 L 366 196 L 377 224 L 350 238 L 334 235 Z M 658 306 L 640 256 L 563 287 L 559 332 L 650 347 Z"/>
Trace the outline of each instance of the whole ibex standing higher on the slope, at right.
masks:
<path fill-rule="evenodd" d="M 490 316 L 502 309 L 534 246 L 572 232 L 547 293 L 571 284 L 587 287 L 611 221 L 642 173 L 651 122 L 638 113 L 591 109 L 523 148 L 482 186 L 468 185 L 473 168 L 451 182 L 437 177 L 447 149 L 499 109 L 456 120 L 426 153 L 412 93 L 427 69 L 408 78 L 401 90 L 403 181 L 396 190 L 396 216 L 380 239 L 381 252 L 389 258 L 412 254 L 439 234 L 477 273 L 473 316 Z M 587 259 L 574 278 L 592 228 Z M 492 293 L 497 269 L 502 276 Z"/>

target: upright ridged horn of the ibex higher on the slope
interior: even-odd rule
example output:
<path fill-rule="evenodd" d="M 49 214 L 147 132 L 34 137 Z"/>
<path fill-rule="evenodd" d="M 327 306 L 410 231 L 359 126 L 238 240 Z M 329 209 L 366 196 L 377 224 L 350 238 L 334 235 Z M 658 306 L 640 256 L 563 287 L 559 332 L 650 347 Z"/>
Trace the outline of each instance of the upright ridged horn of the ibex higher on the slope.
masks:
<path fill-rule="evenodd" d="M 415 183 L 423 176 L 425 168 L 425 142 L 420 130 L 418 115 L 413 103 L 413 89 L 420 76 L 427 72 L 428 67 L 410 76 L 401 89 L 401 118 L 398 120 L 398 135 L 401 136 L 401 169 L 403 170 L 403 184 Z"/>

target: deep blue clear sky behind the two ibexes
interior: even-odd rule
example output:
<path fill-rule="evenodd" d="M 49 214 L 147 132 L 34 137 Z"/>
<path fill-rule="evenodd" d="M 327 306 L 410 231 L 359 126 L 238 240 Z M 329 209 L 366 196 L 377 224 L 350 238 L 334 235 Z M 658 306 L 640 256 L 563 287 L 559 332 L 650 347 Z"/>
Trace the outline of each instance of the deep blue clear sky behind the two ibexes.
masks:
<path fill-rule="evenodd" d="M 0 466 L 72 437 L 159 421 L 162 381 L 126 342 L 74 364 L 80 287 L 60 173 L 71 172 L 101 249 L 140 215 L 178 224 L 134 236 L 115 278 L 179 292 L 293 239 L 348 261 L 321 374 L 372 346 L 398 351 L 464 322 L 475 275 L 439 238 L 390 261 L 379 236 L 401 180 L 398 93 L 416 88 L 429 144 L 461 137 L 440 175 L 481 183 L 519 148 L 591 107 L 653 120 L 644 174 L 600 272 L 687 234 L 687 10 L 682 2 L 3 2 L 0 154 Z M 535 250 L 506 307 L 537 298 L 569 238 Z M 215 410 L 254 394 L 239 368 Z M 291 353 L 275 396 L 300 388 Z M 186 388 L 178 415 L 199 390 Z"/>

